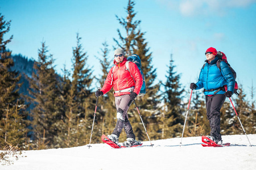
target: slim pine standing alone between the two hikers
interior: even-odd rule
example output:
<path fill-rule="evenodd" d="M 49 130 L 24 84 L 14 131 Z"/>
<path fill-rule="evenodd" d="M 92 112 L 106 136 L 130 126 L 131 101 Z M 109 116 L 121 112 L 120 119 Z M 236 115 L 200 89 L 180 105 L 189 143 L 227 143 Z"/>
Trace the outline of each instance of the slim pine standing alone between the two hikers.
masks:
<path fill-rule="evenodd" d="M 175 137 L 182 131 L 181 124 L 184 124 L 184 117 L 182 113 L 185 112 L 182 101 L 182 95 L 184 88 L 181 87 L 179 82 L 180 74 L 176 74 L 174 71 L 174 60 L 171 60 L 168 66 L 168 75 L 166 75 L 167 81 L 164 84 L 163 100 L 166 105 L 166 110 L 163 119 L 163 130 L 166 134 L 163 134 L 164 138 Z"/>

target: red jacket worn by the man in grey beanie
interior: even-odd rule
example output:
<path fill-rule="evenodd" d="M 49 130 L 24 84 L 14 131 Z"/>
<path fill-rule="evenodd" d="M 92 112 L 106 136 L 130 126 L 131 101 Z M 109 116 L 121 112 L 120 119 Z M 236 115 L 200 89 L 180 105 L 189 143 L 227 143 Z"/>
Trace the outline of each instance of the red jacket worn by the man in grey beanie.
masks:
<path fill-rule="evenodd" d="M 126 61 L 127 59 L 124 58 L 123 62 L 117 64 L 117 62 L 114 59 L 115 66 L 113 66 L 109 70 L 104 86 L 101 88 L 101 91 L 103 92 L 103 94 L 106 94 L 107 92 L 109 92 L 112 87 L 114 88 L 114 91 L 119 91 L 119 90 L 124 90 L 126 88 L 134 87 L 134 92 L 136 94 L 139 94 L 143 84 L 141 72 L 139 71 L 135 63 L 129 62 L 129 69 L 130 69 L 131 75 L 133 75 L 133 78 L 135 79 L 135 82 L 136 82 L 134 83 L 134 80 L 131 77 L 129 71 L 126 70 L 126 66 L 125 66 Z M 113 69 L 114 69 L 114 74 L 113 74 L 113 82 L 112 82 Z M 117 97 L 117 96 L 122 96 L 126 94 L 130 94 L 130 92 L 116 93 L 114 94 L 114 96 Z"/>

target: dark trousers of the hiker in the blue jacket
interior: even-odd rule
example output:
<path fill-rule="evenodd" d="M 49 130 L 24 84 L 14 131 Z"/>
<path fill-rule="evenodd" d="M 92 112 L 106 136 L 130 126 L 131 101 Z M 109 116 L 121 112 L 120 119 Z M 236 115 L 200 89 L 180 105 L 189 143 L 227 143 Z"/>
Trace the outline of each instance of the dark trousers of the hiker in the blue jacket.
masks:
<path fill-rule="evenodd" d="M 220 134 L 220 109 L 226 99 L 225 95 L 205 96 L 207 118 L 210 122 L 210 135 L 221 140 Z"/>

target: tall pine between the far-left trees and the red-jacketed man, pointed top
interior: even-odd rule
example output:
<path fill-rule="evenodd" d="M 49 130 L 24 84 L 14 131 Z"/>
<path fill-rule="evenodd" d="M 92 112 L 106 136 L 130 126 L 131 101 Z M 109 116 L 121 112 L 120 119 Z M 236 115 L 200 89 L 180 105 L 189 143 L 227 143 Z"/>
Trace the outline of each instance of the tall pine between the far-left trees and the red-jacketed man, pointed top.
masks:
<path fill-rule="evenodd" d="M 83 52 L 81 37 L 77 33 L 77 45 L 73 48 L 73 74 L 71 87 L 67 96 L 67 110 L 63 119 L 64 145 L 65 147 L 85 145 L 88 140 L 92 122 L 93 105 L 96 103 L 93 98 L 90 86 L 92 83 L 92 71 L 86 66 L 88 56 Z M 97 124 L 97 122 L 96 122 Z"/>

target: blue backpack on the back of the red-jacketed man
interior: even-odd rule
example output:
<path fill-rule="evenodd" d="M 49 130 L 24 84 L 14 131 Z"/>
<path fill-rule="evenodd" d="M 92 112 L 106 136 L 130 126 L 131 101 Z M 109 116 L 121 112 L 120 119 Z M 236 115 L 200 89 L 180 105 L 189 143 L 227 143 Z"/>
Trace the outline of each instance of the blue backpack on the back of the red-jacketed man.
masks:
<path fill-rule="evenodd" d="M 139 71 L 141 72 L 141 75 L 142 75 L 142 78 L 143 78 L 143 84 L 142 84 L 141 91 L 139 92 L 138 96 L 143 97 L 146 94 L 146 82 L 145 82 L 144 74 L 141 70 L 141 58 L 139 58 L 139 56 L 137 54 L 132 54 L 131 56 L 128 56 L 127 60 L 128 61 L 126 61 L 125 67 L 129 71 L 130 75 L 131 75 L 131 72 L 130 72 L 130 69 L 129 69 L 129 62 L 135 63 L 138 66 Z M 132 75 L 131 75 L 131 77 L 133 78 Z M 134 83 L 135 83 L 134 78 L 133 78 L 133 80 L 134 80 Z"/>

